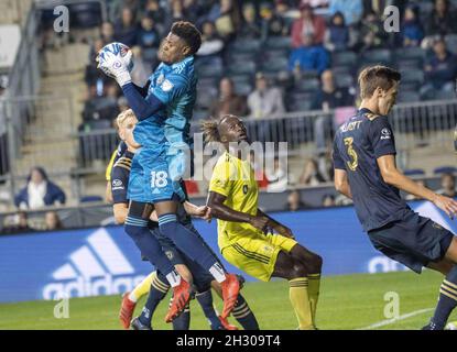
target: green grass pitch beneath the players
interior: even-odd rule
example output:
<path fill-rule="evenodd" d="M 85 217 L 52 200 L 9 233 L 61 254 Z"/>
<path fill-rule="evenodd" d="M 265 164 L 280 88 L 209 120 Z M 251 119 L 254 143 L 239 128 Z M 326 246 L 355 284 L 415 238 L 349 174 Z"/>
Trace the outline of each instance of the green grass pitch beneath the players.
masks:
<path fill-rule="evenodd" d="M 418 310 L 436 305 L 443 277 L 426 271 L 418 276 L 413 273 L 390 273 L 376 275 L 345 275 L 324 277 L 317 312 L 317 324 L 322 330 L 352 330 L 370 327 L 387 320 L 384 295 L 394 292 L 400 297 L 400 315 L 404 319 L 377 329 L 422 328 L 433 311 Z M 250 283 L 242 290 L 254 311 L 261 329 L 293 330 L 296 319 L 289 301 L 286 282 Z M 139 314 L 144 298 L 137 306 Z M 215 302 L 218 309 L 221 301 Z M 54 318 L 54 301 L 31 301 L 0 305 L 0 329 L 121 329 L 118 321 L 120 296 L 77 298 L 69 301 L 69 318 Z M 167 306 L 162 302 L 154 315 L 154 329 L 171 329 L 163 319 Z M 198 304 L 191 306 L 191 329 L 207 330 Z M 414 314 L 415 312 L 415 314 Z M 411 317 L 407 315 L 414 314 Z M 235 320 L 230 318 L 232 322 Z M 450 320 L 457 320 L 457 314 Z"/>

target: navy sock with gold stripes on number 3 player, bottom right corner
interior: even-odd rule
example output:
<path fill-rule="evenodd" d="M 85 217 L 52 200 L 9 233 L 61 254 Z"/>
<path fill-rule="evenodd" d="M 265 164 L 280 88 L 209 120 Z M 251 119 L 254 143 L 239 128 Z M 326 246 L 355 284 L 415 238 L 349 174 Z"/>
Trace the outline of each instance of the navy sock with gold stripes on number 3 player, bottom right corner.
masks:
<path fill-rule="evenodd" d="M 443 330 L 447 319 L 457 306 L 457 265 L 447 274 L 439 289 L 439 300 L 435 315 L 431 320 L 433 330 Z"/>

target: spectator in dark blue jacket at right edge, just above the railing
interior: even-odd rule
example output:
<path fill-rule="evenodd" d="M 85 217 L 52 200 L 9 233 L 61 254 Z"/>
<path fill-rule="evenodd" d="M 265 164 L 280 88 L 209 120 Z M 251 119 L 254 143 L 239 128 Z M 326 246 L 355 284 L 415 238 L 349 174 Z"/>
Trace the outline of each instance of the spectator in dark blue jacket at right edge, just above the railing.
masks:
<path fill-rule="evenodd" d="M 425 99 L 433 99 L 436 90 L 454 91 L 457 77 L 457 58 L 447 50 L 446 42 L 437 40 L 433 51 L 424 67 L 426 85 L 421 95 Z"/>

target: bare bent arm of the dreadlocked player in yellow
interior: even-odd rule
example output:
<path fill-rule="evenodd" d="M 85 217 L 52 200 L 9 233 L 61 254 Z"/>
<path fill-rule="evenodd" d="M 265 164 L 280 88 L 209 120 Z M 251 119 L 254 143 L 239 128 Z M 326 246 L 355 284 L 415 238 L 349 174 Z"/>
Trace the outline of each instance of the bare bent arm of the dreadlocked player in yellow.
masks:
<path fill-rule="evenodd" d="M 249 213 L 236 211 L 227 207 L 224 202 L 227 197 L 215 191 L 210 191 L 208 196 L 207 206 L 211 209 L 211 215 L 215 218 L 225 221 L 248 222 L 260 231 L 265 231 L 268 228 L 269 218 L 261 216 L 251 216 Z"/>

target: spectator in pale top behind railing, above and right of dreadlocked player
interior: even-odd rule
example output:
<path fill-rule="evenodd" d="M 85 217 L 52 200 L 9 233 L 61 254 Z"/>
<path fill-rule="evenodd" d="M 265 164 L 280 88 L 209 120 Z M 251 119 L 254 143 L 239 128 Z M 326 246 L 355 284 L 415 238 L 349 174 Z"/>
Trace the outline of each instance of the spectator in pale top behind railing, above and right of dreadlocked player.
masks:
<path fill-rule="evenodd" d="M 263 73 L 255 75 L 255 90 L 248 97 L 250 117 L 264 119 L 285 112 L 283 96 L 278 87 L 271 87 Z"/>

